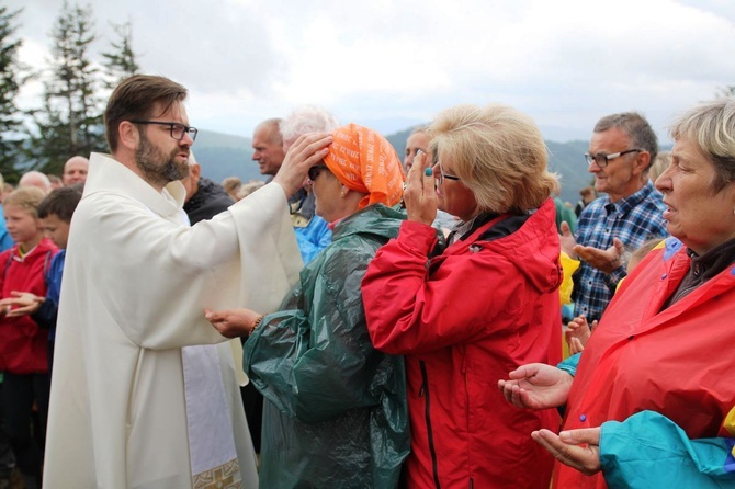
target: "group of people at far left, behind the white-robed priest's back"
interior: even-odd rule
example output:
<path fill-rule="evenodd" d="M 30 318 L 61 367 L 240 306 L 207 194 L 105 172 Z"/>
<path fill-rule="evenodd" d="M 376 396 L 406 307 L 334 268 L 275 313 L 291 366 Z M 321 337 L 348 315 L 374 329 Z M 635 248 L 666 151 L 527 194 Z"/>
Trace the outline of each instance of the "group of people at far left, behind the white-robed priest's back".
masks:
<path fill-rule="evenodd" d="M 27 172 L 0 204 L 0 477 L 18 467 L 26 488 L 41 480 L 66 241 L 88 166 L 70 158 L 58 187 Z"/>

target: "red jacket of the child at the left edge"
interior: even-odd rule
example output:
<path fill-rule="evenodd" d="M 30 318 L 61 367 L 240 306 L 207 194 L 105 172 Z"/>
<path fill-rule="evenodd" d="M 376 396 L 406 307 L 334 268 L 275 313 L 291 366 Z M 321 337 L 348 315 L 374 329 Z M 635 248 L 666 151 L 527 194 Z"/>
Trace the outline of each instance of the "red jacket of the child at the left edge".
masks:
<path fill-rule="evenodd" d="M 20 258 L 18 246 L 0 253 L 0 295 L 11 297 L 12 291 L 46 296 L 44 269 L 50 264 L 56 247 L 47 239 Z M 12 258 L 11 258 L 12 255 Z M 48 331 L 38 328 L 30 316 L 0 317 L 0 371 L 13 374 L 48 371 L 46 348 Z"/>

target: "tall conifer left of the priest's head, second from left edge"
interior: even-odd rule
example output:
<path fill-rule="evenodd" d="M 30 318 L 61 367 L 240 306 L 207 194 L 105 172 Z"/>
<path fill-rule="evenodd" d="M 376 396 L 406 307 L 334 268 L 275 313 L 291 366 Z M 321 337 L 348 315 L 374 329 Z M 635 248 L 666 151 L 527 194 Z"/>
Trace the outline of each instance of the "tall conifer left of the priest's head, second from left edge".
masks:
<path fill-rule="evenodd" d="M 100 73 L 89 48 L 95 39 L 91 7 L 66 1 L 52 31 L 52 72 L 44 82 L 44 107 L 34 114 L 37 132 L 30 151 L 34 167 L 59 174 L 75 156 L 104 150 Z"/>

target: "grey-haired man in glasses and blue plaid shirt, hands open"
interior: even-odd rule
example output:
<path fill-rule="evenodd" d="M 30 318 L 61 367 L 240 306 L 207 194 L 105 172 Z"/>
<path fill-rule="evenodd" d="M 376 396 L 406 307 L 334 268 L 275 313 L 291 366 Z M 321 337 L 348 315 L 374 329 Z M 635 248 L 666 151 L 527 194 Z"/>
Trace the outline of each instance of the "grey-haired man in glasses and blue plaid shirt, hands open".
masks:
<path fill-rule="evenodd" d="M 575 274 L 575 315 L 599 320 L 618 282 L 626 275 L 624 251 L 668 236 L 662 195 L 648 180 L 658 140 L 634 112 L 602 117 L 585 155 L 595 190 L 606 195 L 581 212 L 577 232 L 562 224 L 562 249 L 581 260 Z"/>

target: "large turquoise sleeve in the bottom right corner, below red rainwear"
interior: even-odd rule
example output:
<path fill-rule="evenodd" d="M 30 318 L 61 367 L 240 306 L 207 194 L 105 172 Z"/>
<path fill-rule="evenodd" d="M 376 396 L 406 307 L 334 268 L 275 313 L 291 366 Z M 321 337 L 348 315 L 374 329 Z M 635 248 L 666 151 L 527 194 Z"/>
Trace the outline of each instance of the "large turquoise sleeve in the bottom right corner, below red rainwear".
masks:
<path fill-rule="evenodd" d="M 642 411 L 602 423 L 600 463 L 611 489 L 735 488 L 735 439 L 690 440 L 670 419 Z"/>

